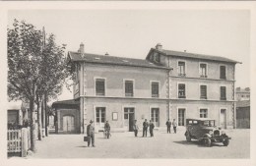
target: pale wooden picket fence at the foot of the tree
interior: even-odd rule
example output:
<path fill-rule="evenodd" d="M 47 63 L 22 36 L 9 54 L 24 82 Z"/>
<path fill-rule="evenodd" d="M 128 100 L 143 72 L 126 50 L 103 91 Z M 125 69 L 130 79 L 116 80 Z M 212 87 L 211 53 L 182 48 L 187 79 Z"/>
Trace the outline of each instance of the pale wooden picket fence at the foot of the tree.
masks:
<path fill-rule="evenodd" d="M 22 157 L 27 156 L 31 148 L 31 129 L 23 128 L 20 130 L 8 130 L 7 132 L 7 151 L 21 152 Z"/>

